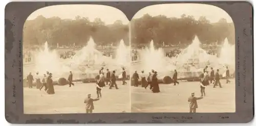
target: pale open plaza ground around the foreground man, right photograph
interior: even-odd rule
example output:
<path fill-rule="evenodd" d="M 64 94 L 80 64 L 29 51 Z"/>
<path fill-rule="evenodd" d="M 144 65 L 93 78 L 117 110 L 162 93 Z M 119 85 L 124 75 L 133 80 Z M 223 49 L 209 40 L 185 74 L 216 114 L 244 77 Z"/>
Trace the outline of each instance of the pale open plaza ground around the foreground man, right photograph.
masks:
<path fill-rule="evenodd" d="M 210 84 L 206 87 L 206 96 L 198 100 L 199 113 L 222 113 L 236 111 L 236 94 L 234 79 L 225 84 L 221 80 L 223 88 L 213 88 Z M 132 112 L 189 112 L 188 97 L 191 92 L 200 96 L 199 82 L 180 82 L 173 86 L 160 84 L 160 93 L 152 93 L 149 87 L 132 87 Z"/>

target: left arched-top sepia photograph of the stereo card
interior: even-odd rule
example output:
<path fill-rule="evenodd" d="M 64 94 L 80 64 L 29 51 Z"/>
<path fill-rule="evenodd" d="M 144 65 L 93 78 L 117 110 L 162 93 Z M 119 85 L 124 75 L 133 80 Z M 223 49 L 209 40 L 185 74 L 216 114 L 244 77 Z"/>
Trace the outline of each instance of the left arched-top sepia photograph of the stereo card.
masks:
<path fill-rule="evenodd" d="M 129 20 L 120 10 L 36 10 L 23 28 L 24 113 L 131 112 L 129 66 Z"/>

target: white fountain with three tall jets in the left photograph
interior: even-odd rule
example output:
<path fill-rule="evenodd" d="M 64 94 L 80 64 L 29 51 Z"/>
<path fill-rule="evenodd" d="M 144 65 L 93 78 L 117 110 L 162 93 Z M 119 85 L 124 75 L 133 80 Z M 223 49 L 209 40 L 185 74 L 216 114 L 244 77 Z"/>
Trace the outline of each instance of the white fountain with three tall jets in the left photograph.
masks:
<path fill-rule="evenodd" d="M 116 70 L 118 75 L 122 72 L 122 67 L 130 65 L 129 48 L 124 45 L 123 41 L 120 41 L 116 53 L 116 59 L 103 56 L 95 48 L 94 40 L 90 38 L 87 46 L 76 52 L 71 59 L 60 59 L 56 50 L 50 51 L 48 42 L 45 42 L 44 49 L 35 53 L 35 63 L 31 66 L 24 66 L 24 75 L 26 76 L 29 72 L 34 74 L 38 71 L 39 75 L 42 76 L 46 71 L 49 71 L 53 73 L 54 82 L 57 82 L 60 78 L 65 81 L 69 71 L 72 71 L 74 81 L 95 80 L 100 67 Z M 127 59 L 125 59 L 125 55 Z M 126 69 L 126 73 L 129 73 L 129 69 Z"/>

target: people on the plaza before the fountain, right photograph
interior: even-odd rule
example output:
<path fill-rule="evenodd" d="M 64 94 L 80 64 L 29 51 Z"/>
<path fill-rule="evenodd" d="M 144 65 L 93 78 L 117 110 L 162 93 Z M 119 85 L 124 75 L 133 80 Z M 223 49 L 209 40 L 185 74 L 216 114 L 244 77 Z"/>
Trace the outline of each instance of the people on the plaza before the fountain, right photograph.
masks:
<path fill-rule="evenodd" d="M 206 96 L 205 88 L 207 86 L 212 84 L 213 88 L 216 88 L 216 86 L 219 86 L 220 88 L 222 88 L 222 84 L 220 82 L 220 79 L 221 79 L 222 75 L 219 72 L 220 72 L 219 69 L 217 69 L 215 71 L 211 67 L 210 68 L 210 73 L 209 73 L 208 72 L 208 66 L 206 66 L 203 69 L 203 72 L 199 77 L 200 78 L 201 96 L 196 97 L 195 92 L 193 92 L 193 93 L 191 93 L 191 96 L 188 98 L 189 112 L 190 113 L 195 113 L 196 112 L 196 109 L 198 108 L 197 100 L 202 99 L 204 96 Z M 230 83 L 229 78 L 230 78 L 230 72 L 229 72 L 228 66 L 226 66 L 226 71 L 225 71 L 226 83 Z M 175 69 L 173 77 L 172 77 L 172 82 L 174 83 L 174 85 L 179 84 L 177 79 L 178 79 L 178 72 Z M 150 89 L 152 90 L 153 93 L 160 92 L 159 82 L 158 82 L 158 78 L 157 78 L 157 71 L 155 71 L 155 70 L 152 70 L 152 72 L 148 73 L 147 78 L 145 77 L 143 70 L 141 71 L 141 76 L 140 77 L 139 77 L 139 74 L 137 73 L 137 71 L 135 71 L 135 73 L 133 73 L 131 81 L 132 81 L 132 85 L 134 85 L 135 87 L 138 87 L 139 84 L 141 84 L 141 87 L 144 87 L 145 89 L 148 86 L 150 86 Z"/>

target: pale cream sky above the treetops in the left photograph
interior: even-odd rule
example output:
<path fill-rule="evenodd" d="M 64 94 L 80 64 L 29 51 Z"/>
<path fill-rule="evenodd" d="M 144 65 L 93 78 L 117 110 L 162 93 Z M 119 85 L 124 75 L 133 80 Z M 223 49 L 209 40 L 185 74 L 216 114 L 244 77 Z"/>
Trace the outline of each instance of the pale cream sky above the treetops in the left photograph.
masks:
<path fill-rule="evenodd" d="M 55 5 L 34 11 L 27 20 L 35 19 L 42 15 L 46 18 L 58 16 L 61 19 L 74 19 L 76 16 L 88 17 L 90 21 L 99 17 L 105 24 L 112 24 L 116 20 L 121 20 L 123 24 L 128 24 L 129 20 L 122 11 L 103 5 Z"/>

